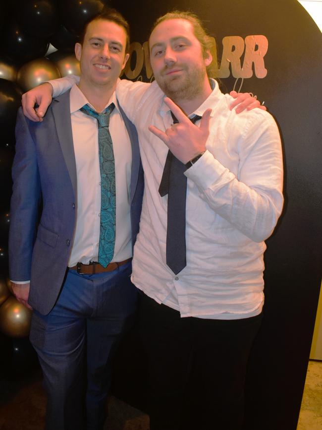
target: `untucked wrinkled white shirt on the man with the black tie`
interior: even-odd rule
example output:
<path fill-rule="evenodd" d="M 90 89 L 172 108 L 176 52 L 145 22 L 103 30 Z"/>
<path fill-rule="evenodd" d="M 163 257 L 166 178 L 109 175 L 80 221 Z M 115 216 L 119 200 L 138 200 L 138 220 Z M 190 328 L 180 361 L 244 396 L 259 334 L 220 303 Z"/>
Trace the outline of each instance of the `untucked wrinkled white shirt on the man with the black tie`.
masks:
<path fill-rule="evenodd" d="M 150 124 L 168 128 L 170 111 L 156 82 L 117 86 L 137 127 L 145 175 L 132 281 L 181 316 L 238 319 L 260 313 L 264 303 L 264 240 L 283 206 L 281 143 L 267 112 L 236 115 L 229 109 L 233 99 L 213 85 L 194 112 L 212 108 L 207 150 L 185 173 L 187 265 L 178 275 L 165 262 L 167 196 L 158 191 L 168 148 L 148 130 Z"/>

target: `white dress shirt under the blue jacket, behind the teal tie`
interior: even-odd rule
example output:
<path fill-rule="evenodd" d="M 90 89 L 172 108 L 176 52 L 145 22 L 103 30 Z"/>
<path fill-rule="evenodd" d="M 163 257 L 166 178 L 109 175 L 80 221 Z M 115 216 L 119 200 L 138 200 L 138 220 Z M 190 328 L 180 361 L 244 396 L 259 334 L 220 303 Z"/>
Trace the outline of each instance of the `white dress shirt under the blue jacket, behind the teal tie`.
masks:
<path fill-rule="evenodd" d="M 77 172 L 77 218 L 69 267 L 77 262 L 87 264 L 90 261 L 97 261 L 99 253 L 101 175 L 98 122 L 80 111 L 87 103 L 90 105 L 82 91 L 74 84 L 70 90 L 70 116 Z M 115 105 L 109 120 L 116 186 L 115 246 L 112 261 L 123 261 L 132 256 L 130 220 L 132 151 L 115 93 L 106 107 L 110 103 Z"/>

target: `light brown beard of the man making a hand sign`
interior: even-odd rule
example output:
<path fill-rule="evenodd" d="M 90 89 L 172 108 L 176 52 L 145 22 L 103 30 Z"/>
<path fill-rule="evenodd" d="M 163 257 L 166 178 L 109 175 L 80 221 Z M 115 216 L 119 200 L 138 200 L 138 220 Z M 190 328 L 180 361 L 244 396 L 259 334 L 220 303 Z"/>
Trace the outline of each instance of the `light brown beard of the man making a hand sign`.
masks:
<path fill-rule="evenodd" d="M 178 65 L 175 65 L 175 68 Z M 167 76 L 166 72 L 171 68 L 165 66 L 160 75 L 155 76 L 156 81 L 164 92 L 174 102 L 179 100 L 193 100 L 203 91 L 206 69 L 200 66 L 179 66 L 183 70 L 180 76 Z"/>

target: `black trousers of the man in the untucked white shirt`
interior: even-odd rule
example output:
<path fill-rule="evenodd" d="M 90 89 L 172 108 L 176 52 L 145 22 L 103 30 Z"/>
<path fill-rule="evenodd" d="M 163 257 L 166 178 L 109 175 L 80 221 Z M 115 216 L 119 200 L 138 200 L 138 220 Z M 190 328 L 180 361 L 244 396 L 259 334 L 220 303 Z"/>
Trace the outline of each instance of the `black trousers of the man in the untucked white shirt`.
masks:
<path fill-rule="evenodd" d="M 139 301 L 149 363 L 150 429 L 241 429 L 247 361 L 262 315 L 181 318 L 144 294 Z"/>

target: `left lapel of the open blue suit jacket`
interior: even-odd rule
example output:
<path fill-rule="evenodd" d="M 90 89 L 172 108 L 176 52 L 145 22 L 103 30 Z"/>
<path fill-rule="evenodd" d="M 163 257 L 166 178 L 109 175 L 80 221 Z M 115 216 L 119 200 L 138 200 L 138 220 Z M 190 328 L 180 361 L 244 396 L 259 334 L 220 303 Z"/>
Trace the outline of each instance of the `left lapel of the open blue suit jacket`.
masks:
<path fill-rule="evenodd" d="M 61 151 L 67 166 L 74 194 L 76 196 L 77 174 L 73 135 L 71 131 L 69 91 L 61 94 L 53 100 L 52 110 Z"/>

